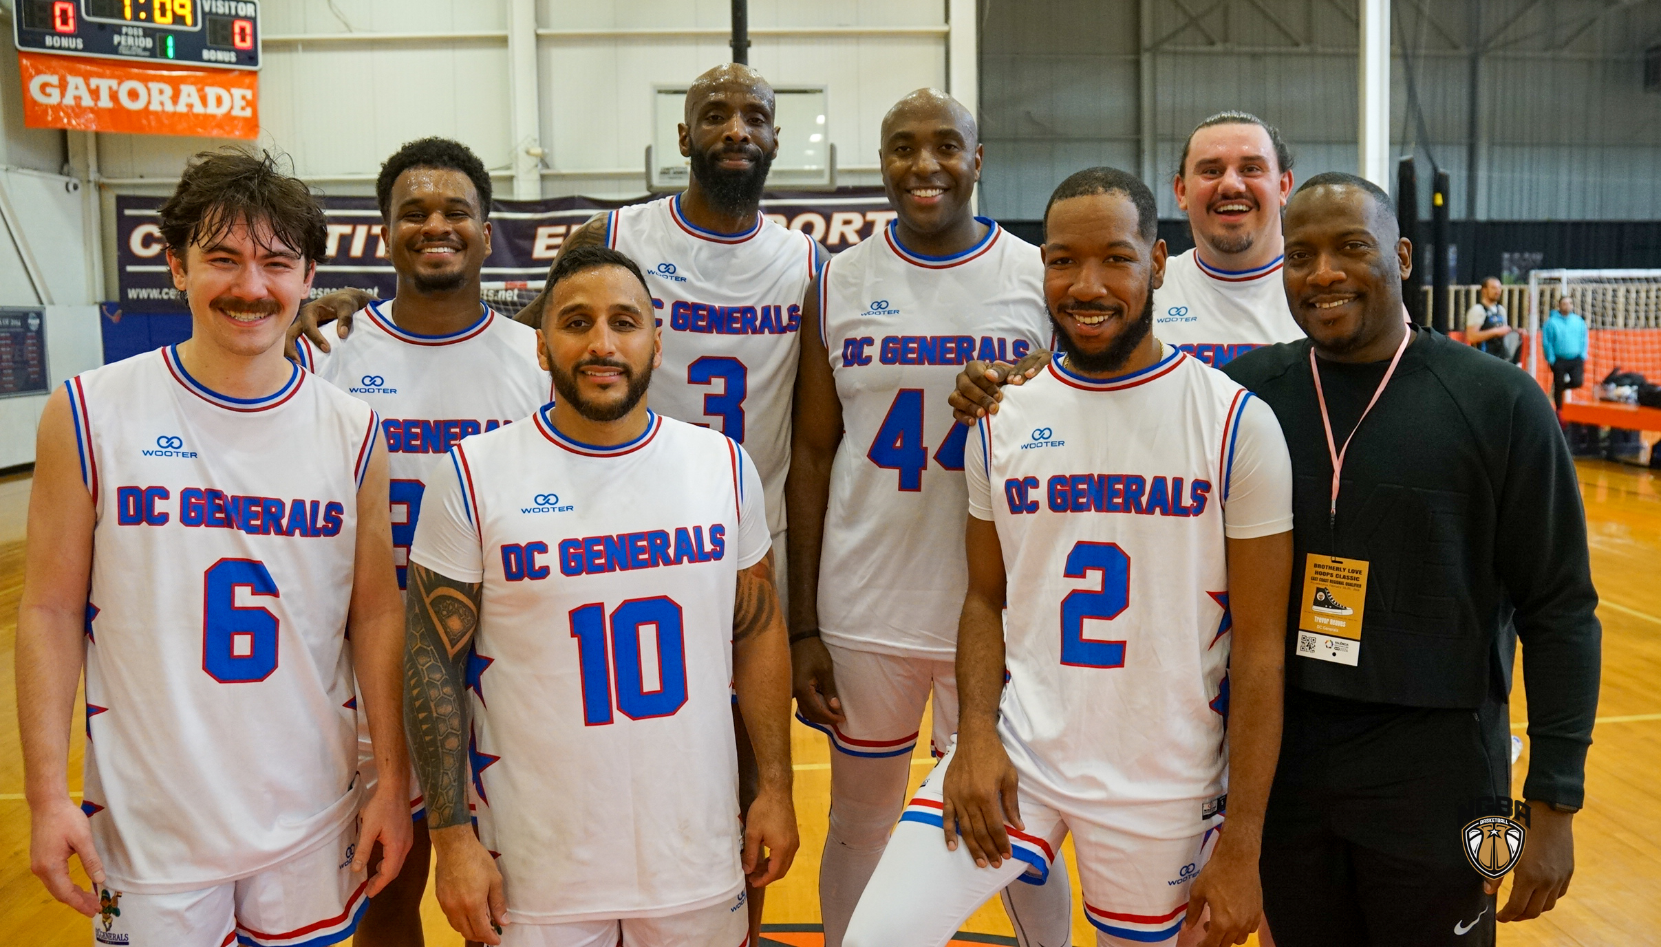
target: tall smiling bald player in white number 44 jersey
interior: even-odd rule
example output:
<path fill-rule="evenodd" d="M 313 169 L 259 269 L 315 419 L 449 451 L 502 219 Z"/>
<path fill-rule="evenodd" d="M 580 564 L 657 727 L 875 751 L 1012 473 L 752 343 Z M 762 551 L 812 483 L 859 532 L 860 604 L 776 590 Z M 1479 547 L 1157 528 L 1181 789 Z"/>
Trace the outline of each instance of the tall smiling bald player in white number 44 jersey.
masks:
<path fill-rule="evenodd" d="M 899 218 L 826 264 L 822 317 L 802 332 L 791 656 L 797 716 L 832 748 L 826 947 L 840 947 L 905 802 L 930 694 L 933 751 L 957 731 L 967 429 L 943 395 L 965 361 L 1018 359 L 1050 336 L 1038 248 L 970 208 L 980 158 L 952 96 L 917 90 L 889 110 L 879 159 Z M 1023 944 L 1068 942 L 1065 869 L 1010 886 L 1007 907 Z"/>

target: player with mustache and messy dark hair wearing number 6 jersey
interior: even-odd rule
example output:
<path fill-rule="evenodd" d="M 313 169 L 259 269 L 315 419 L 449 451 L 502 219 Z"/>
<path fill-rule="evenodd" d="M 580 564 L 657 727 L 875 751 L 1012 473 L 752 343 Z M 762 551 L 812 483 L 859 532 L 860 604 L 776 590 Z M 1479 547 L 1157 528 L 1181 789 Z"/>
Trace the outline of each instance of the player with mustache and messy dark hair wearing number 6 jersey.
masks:
<path fill-rule="evenodd" d="M 103 944 L 337 944 L 410 846 L 379 419 L 282 357 L 324 258 L 304 183 L 203 153 L 159 224 L 189 341 L 76 375 L 40 424 L 17 631 L 32 864 Z"/>

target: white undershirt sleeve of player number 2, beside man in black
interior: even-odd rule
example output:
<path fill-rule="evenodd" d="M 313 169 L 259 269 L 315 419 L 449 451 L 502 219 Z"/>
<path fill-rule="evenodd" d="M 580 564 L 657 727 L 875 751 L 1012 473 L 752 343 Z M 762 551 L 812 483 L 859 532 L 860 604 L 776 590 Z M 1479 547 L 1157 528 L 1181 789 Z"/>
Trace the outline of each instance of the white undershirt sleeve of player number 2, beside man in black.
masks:
<path fill-rule="evenodd" d="M 1222 533 L 1231 540 L 1292 528 L 1292 459 L 1274 410 L 1247 397 L 1224 455 Z"/>

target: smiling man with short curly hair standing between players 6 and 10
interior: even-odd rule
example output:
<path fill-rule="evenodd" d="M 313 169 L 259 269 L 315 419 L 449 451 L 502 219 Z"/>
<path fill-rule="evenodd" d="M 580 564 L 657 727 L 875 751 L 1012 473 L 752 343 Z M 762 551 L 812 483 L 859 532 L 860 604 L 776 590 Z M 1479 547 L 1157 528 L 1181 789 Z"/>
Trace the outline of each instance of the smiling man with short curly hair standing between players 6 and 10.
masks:
<path fill-rule="evenodd" d="M 369 302 L 367 321 L 324 347 L 299 336 L 301 366 L 367 402 L 380 415 L 389 450 L 392 555 L 404 588 L 422 493 L 435 460 L 472 434 L 523 420 L 553 399 L 537 364 L 537 331 L 503 319 L 478 296 L 490 256 L 490 173 L 465 145 L 422 138 L 399 148 L 375 179 L 380 239 L 399 274 L 390 302 Z M 362 778 L 375 786 L 359 726 Z M 420 899 L 432 846 L 419 784 L 412 784 L 415 841 L 404 872 L 374 900 L 359 947 L 424 942 Z"/>

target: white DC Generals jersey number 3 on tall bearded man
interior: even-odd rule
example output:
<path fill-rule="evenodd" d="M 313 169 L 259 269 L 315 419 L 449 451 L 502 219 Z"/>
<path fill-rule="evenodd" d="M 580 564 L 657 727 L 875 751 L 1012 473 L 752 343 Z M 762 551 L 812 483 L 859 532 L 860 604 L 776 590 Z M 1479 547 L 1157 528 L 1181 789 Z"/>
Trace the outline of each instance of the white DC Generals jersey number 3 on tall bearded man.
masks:
<path fill-rule="evenodd" d="M 639 264 L 658 307 L 663 366 L 651 375 L 653 410 L 742 444 L 761 470 L 767 520 L 779 533 L 797 331 L 819 244 L 759 213 L 741 234 L 701 229 L 681 214 L 674 194 L 606 214 L 606 246 Z"/>

